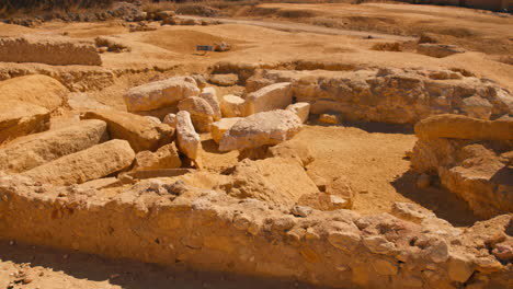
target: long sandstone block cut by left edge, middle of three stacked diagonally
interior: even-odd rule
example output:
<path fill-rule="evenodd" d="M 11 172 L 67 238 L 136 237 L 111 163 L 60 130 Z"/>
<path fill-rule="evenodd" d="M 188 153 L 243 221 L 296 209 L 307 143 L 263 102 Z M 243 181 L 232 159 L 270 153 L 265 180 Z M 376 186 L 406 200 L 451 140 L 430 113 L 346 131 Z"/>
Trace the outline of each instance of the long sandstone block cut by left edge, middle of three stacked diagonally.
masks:
<path fill-rule="evenodd" d="M 0 149 L 0 170 L 11 173 L 27 171 L 107 139 L 105 122 L 96 119 L 25 136 Z"/>

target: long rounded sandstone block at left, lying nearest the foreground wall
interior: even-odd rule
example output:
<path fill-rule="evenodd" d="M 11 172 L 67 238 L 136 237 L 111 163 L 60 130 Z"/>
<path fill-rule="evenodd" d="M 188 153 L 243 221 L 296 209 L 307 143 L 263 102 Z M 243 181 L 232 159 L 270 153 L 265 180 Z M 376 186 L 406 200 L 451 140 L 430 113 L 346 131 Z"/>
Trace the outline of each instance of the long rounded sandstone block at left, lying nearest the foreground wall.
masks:
<path fill-rule="evenodd" d="M 81 184 L 129 167 L 134 158 L 128 141 L 114 139 L 39 165 L 22 175 L 54 185 Z"/>

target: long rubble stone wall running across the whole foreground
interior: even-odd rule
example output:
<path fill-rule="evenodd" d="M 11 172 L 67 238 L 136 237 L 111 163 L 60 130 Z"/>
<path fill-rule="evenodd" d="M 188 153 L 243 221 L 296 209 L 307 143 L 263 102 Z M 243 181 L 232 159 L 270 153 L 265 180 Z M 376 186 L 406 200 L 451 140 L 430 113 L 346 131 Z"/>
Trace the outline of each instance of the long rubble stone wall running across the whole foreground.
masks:
<path fill-rule="evenodd" d="M 297 218 L 254 199 L 139 183 L 116 196 L 0 177 L 0 236 L 337 288 L 506 288 L 511 216 L 460 230 L 420 208 Z M 499 248 L 499 250 L 495 250 Z M 506 252 L 508 253 L 508 252 Z M 510 246 L 511 254 L 511 246 Z"/>

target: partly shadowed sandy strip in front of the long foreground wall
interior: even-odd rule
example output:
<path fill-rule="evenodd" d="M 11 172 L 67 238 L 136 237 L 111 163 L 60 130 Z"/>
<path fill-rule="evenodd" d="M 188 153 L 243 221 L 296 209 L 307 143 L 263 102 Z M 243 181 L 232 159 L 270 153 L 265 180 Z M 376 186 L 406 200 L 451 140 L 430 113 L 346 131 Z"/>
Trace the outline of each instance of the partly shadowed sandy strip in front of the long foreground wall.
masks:
<path fill-rule="evenodd" d="M 105 259 L 75 251 L 58 251 L 0 241 L 0 288 L 8 289 L 237 289 L 314 288 L 297 281 L 191 273 L 178 264 L 162 267 L 128 259 Z"/>

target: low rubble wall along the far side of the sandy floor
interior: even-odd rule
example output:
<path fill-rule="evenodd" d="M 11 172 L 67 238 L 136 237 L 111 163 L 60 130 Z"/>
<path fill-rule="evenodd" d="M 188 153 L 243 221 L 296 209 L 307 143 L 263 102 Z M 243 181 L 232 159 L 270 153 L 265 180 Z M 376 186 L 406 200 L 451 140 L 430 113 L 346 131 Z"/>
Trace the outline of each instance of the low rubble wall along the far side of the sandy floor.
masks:
<path fill-rule="evenodd" d="M 345 120 L 410 124 L 431 115 L 461 114 L 481 119 L 513 113 L 513 96 L 492 81 L 466 71 L 356 69 L 353 71 L 258 70 L 248 91 L 292 82 L 297 102 L 310 113 L 340 113 Z"/>

